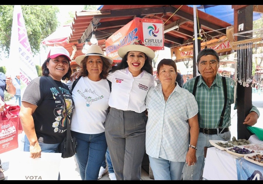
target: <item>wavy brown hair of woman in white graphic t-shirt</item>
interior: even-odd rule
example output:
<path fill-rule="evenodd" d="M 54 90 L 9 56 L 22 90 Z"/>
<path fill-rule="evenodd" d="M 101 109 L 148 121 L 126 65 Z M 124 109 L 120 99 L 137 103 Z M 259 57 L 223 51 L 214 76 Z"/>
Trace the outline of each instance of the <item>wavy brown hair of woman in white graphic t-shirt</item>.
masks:
<path fill-rule="evenodd" d="M 106 79 L 106 77 L 107 77 L 107 75 L 108 75 L 108 72 L 109 72 L 109 70 L 110 70 L 110 68 L 111 68 L 111 64 L 110 64 L 110 62 L 108 61 L 108 59 L 106 59 L 106 58 L 104 58 L 104 57 L 102 57 L 102 56 L 100 56 L 100 57 L 101 57 L 101 60 L 102 60 L 102 62 L 103 62 L 103 67 L 102 67 L 102 72 L 100 73 L 100 78 L 101 78 L 101 79 Z M 83 77 L 86 77 L 86 76 L 89 75 L 89 72 L 88 72 L 87 67 L 86 67 L 86 63 L 87 63 L 88 58 L 89 58 L 89 56 L 86 56 L 86 57 L 83 58 L 83 60 L 80 62 L 81 66 L 82 66 L 82 68 L 83 68 L 83 70 L 81 71 L 81 75 L 82 75 Z"/>

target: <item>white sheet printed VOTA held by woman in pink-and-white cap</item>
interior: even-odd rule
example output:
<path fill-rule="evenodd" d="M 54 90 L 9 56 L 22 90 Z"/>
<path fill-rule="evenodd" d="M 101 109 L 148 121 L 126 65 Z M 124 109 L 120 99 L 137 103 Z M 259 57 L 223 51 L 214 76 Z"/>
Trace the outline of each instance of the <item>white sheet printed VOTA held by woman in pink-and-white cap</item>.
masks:
<path fill-rule="evenodd" d="M 8 180 L 58 180 L 61 153 L 41 152 L 41 158 L 32 159 L 29 152 L 18 152 L 9 161 Z"/>

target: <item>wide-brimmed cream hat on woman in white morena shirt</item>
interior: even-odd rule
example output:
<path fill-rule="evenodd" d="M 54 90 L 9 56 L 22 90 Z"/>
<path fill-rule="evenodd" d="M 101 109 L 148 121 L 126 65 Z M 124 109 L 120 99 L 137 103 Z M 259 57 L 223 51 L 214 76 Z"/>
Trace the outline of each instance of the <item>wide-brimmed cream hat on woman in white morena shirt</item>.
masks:
<path fill-rule="evenodd" d="M 153 60 L 155 58 L 155 53 L 149 47 L 144 46 L 141 40 L 134 40 L 129 45 L 122 46 L 118 50 L 118 54 L 121 58 L 124 58 L 124 55 L 129 51 L 139 51 L 143 52 L 147 55 L 149 60 Z"/>

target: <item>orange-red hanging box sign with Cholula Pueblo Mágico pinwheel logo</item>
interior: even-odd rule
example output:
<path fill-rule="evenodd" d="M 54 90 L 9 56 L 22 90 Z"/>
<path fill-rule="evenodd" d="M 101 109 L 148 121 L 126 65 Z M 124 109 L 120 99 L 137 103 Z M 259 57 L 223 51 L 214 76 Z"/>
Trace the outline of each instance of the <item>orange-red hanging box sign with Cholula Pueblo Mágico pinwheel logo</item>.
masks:
<path fill-rule="evenodd" d="M 135 18 L 112 34 L 106 42 L 106 54 L 115 63 L 121 62 L 118 49 L 139 40 L 153 50 L 164 50 L 163 22 L 160 19 Z"/>

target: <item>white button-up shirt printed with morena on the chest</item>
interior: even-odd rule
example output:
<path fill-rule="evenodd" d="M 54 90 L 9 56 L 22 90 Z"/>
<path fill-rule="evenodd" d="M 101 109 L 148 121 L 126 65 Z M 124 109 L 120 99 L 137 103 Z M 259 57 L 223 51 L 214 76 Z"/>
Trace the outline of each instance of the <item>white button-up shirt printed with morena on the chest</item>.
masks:
<path fill-rule="evenodd" d="M 141 113 L 146 110 L 145 97 L 154 86 L 154 77 L 145 70 L 133 77 L 127 68 L 109 73 L 107 79 L 112 82 L 109 106 L 119 110 L 131 110 Z"/>

